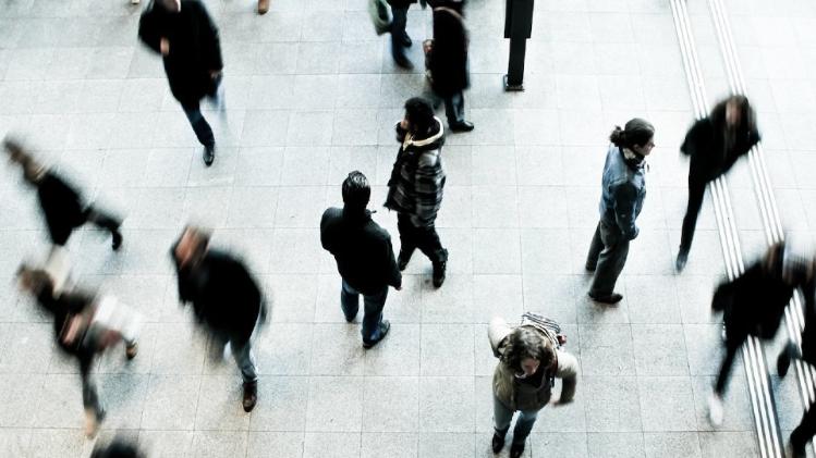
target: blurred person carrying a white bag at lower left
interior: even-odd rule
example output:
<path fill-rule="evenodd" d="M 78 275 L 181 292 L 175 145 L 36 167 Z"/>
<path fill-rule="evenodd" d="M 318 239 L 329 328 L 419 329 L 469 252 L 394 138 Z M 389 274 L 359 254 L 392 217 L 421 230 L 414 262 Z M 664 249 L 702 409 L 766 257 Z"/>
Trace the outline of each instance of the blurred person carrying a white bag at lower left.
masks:
<path fill-rule="evenodd" d="M 137 349 L 135 336 L 110 329 L 105 329 L 102 333 L 94 332 L 98 330 L 90 325 L 97 310 L 96 296 L 81 289 L 58 292 L 54 278 L 42 269 L 22 264 L 17 270 L 17 281 L 21 289 L 31 294 L 53 317 L 53 333 L 59 348 L 80 363 L 85 432 L 93 436 L 105 419 L 105 408 L 90 379 L 96 356 L 124 337 L 125 355 L 129 360 L 133 359 Z"/>

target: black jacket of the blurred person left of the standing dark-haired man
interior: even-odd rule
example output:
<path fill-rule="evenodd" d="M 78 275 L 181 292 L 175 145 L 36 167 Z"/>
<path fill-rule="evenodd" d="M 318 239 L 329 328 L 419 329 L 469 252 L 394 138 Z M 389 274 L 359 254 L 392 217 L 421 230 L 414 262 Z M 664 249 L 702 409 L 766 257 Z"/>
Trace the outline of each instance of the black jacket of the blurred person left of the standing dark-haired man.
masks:
<path fill-rule="evenodd" d="M 171 256 L 175 261 L 173 251 Z M 193 302 L 199 321 L 242 345 L 252 336 L 258 315 L 265 314 L 264 297 L 244 264 L 232 256 L 210 249 L 194 269 L 179 269 L 179 299 Z M 263 321 L 263 318 L 261 318 Z"/>

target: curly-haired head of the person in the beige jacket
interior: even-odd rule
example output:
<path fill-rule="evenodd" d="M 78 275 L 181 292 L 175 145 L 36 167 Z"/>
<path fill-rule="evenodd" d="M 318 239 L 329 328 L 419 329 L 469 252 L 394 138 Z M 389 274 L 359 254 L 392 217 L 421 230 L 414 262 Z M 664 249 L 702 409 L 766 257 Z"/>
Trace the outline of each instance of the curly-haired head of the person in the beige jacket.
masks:
<path fill-rule="evenodd" d="M 519 377 L 527 377 L 539 368 L 548 368 L 556 359 L 549 339 L 529 327 L 520 326 L 508 335 L 502 361 Z"/>

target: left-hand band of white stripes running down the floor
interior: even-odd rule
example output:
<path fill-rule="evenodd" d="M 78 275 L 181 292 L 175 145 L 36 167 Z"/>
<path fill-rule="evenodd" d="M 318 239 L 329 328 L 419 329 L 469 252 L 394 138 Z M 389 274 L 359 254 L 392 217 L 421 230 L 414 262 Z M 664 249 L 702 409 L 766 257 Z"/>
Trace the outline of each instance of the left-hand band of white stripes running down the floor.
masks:
<path fill-rule="evenodd" d="M 686 74 L 686 83 L 692 95 L 692 102 L 695 109 L 696 117 L 705 115 L 705 92 L 703 76 L 701 69 L 697 64 L 696 49 L 694 38 L 691 32 L 691 25 L 689 23 L 689 14 L 685 10 L 685 2 L 682 0 L 672 0 L 671 2 L 672 15 L 674 18 L 674 28 L 678 34 L 678 40 L 680 45 L 681 55 L 683 58 L 684 70 Z M 720 246 L 722 248 L 722 255 L 726 261 L 726 270 L 729 277 L 733 278 L 736 273 L 743 269 L 741 253 L 739 252 L 739 234 L 734 226 L 734 218 L 732 209 L 730 208 L 730 201 L 723 195 L 728 193 L 728 186 L 724 177 L 721 177 L 708 186 L 708 190 L 711 194 L 713 201 L 715 205 L 715 216 L 717 221 L 717 228 L 720 238 Z M 776 423 L 776 412 L 772 410 L 774 405 L 767 406 L 767 398 L 762 396 L 762 393 L 757 393 L 755 384 L 757 377 L 762 379 L 765 375 L 767 380 L 767 373 L 762 372 L 762 368 L 756 364 L 754 354 L 751 351 L 752 342 L 748 341 L 748 345 L 743 346 L 743 362 L 746 371 L 746 377 L 748 382 L 750 400 L 753 408 L 756 437 L 759 445 L 759 451 L 763 457 L 767 456 L 767 423 L 771 420 Z M 756 373 L 760 371 L 760 373 Z M 771 410 L 768 410 L 770 407 Z M 769 414 L 769 418 L 766 416 Z M 771 436 L 772 431 L 770 432 Z M 778 448 L 778 447 L 777 447 Z"/>

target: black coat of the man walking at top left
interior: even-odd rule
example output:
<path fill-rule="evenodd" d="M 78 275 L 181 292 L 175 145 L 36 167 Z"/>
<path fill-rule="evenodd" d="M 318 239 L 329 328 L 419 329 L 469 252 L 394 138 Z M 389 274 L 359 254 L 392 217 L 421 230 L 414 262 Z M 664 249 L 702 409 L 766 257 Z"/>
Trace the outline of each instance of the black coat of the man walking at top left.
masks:
<path fill-rule="evenodd" d="M 197 103 L 216 90 L 210 71 L 223 67 L 218 28 L 199 0 L 181 0 L 181 11 L 171 13 L 151 2 L 142 13 L 138 36 L 156 52 L 161 38 L 170 42 L 165 71 L 170 91 L 182 104 Z"/>

